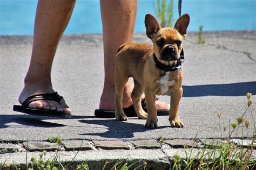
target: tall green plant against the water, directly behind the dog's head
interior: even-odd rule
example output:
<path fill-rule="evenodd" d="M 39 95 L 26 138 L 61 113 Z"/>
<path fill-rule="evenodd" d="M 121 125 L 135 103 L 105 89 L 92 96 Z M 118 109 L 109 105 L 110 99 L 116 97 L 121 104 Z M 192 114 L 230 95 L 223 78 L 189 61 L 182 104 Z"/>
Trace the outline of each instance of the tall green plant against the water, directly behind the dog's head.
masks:
<path fill-rule="evenodd" d="M 172 27 L 173 22 L 173 0 L 167 5 L 166 0 L 157 0 L 154 2 L 154 9 L 160 20 L 161 27 Z"/>

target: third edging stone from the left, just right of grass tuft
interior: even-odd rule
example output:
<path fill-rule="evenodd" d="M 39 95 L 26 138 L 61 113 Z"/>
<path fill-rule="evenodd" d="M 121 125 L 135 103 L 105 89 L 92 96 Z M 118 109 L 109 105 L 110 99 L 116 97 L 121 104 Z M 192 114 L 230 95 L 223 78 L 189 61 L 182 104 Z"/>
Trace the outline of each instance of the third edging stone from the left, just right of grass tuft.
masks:
<path fill-rule="evenodd" d="M 93 150 L 93 147 L 86 140 L 63 140 L 62 144 L 64 145 L 66 151 Z"/>

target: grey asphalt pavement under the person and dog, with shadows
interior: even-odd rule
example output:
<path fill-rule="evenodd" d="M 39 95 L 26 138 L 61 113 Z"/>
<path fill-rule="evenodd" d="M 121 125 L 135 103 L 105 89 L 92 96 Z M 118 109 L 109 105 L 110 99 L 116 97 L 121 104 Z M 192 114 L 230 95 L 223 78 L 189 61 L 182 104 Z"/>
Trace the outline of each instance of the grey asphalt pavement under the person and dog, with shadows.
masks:
<path fill-rule="evenodd" d="M 63 139 L 136 140 L 165 138 L 220 138 L 247 108 L 246 93 L 256 94 L 256 31 L 206 32 L 205 44 L 197 43 L 196 32 L 185 40 L 184 94 L 179 114 L 185 127 L 171 128 L 168 116 L 158 116 L 157 129 L 145 129 L 145 120 L 127 122 L 94 117 L 103 89 L 103 42 L 100 34 L 63 36 L 52 68 L 53 88 L 73 110 L 72 119 L 30 116 L 12 111 L 18 104 L 23 79 L 29 66 L 32 37 L 1 36 L 0 141 Z M 150 42 L 144 33 L 134 42 Z M 170 102 L 170 96 L 159 96 Z M 251 126 L 238 136 L 252 137 L 255 104 L 245 118 Z M 254 116 L 254 119 L 253 119 Z M 223 132 L 228 136 L 228 130 Z"/>

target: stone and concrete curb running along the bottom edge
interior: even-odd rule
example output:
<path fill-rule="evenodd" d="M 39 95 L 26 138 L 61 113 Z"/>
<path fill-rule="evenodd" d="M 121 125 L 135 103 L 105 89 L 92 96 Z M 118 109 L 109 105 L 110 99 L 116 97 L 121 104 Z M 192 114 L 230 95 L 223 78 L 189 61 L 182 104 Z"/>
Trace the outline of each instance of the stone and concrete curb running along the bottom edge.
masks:
<path fill-rule="evenodd" d="M 135 163 L 134 168 L 140 166 L 147 169 L 169 169 L 173 166 L 175 154 L 179 154 L 181 159 L 186 158 L 186 152 L 196 157 L 203 151 L 204 144 L 209 151 L 212 150 L 209 146 L 219 146 L 215 145 L 215 140 L 217 139 L 197 141 L 193 141 L 193 139 L 168 139 L 164 143 L 156 139 L 133 141 L 64 140 L 58 154 L 63 165 L 69 164 L 68 169 L 75 169 L 77 165 L 83 162 L 88 164 L 90 169 L 102 169 L 103 167 L 110 169 L 118 160 L 124 160 L 123 164 L 126 162 L 129 165 Z M 239 140 L 239 143 L 238 140 L 231 139 L 231 141 L 236 145 L 243 143 L 245 148 L 252 143 L 251 139 L 245 139 L 243 142 Z M 219 142 L 225 143 L 225 140 L 218 139 Z M 46 154 L 46 160 L 53 158 L 56 145 L 56 143 L 49 143 L 48 141 L 28 141 L 23 142 L 23 144 L 1 143 L 0 165 L 5 162 L 5 165 L 11 164 L 25 169 L 26 158 L 28 162 L 32 157 L 39 159 L 43 150 L 50 151 Z M 255 141 L 252 146 L 254 149 L 252 158 L 256 160 Z M 28 152 L 26 152 L 27 148 Z"/>

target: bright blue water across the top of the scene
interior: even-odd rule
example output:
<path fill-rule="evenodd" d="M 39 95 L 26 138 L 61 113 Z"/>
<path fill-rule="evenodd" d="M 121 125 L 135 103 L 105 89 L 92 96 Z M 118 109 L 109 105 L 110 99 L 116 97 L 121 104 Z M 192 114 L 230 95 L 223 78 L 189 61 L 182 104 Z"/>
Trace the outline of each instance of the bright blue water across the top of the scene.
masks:
<path fill-rule="evenodd" d="M 138 0 L 135 32 L 145 32 L 144 16 L 155 15 L 153 0 Z M 188 31 L 255 30 L 255 0 L 183 0 L 182 13 L 191 17 Z M 178 18 L 174 0 L 174 19 Z M 0 0 L 0 35 L 32 35 L 36 0 Z M 102 33 L 99 0 L 77 0 L 64 34 Z"/>

